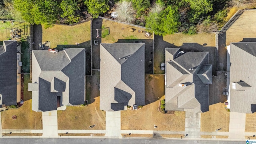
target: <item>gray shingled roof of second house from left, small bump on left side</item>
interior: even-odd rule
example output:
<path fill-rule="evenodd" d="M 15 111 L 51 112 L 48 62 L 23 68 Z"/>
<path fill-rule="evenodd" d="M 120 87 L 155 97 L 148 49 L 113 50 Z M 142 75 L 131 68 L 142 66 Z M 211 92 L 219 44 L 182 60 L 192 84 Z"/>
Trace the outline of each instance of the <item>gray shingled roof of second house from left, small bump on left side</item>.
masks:
<path fill-rule="evenodd" d="M 60 106 L 84 104 L 84 48 L 68 48 L 57 53 L 32 50 L 32 110 L 50 111 Z M 30 88 L 31 87 L 31 88 Z"/>

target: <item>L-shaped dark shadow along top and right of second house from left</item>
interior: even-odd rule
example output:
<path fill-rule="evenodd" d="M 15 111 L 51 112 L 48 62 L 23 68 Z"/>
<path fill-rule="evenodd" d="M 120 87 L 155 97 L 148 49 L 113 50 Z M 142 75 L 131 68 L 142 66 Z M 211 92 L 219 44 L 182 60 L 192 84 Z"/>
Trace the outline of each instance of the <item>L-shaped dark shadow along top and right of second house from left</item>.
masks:
<path fill-rule="evenodd" d="M 55 49 L 63 50 L 63 48 L 84 48 L 85 49 L 85 74 L 91 75 L 91 49 L 90 49 L 90 40 L 82 42 L 80 44 L 68 44 L 60 45 L 58 44 Z"/>

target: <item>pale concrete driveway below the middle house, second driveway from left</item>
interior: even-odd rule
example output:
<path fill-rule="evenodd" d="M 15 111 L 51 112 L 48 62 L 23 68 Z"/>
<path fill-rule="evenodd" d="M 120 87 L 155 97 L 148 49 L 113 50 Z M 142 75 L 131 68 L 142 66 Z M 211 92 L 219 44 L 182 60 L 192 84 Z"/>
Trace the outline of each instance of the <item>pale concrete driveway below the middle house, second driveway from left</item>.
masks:
<path fill-rule="evenodd" d="M 106 112 L 106 135 L 108 137 L 122 137 L 121 111 Z"/>

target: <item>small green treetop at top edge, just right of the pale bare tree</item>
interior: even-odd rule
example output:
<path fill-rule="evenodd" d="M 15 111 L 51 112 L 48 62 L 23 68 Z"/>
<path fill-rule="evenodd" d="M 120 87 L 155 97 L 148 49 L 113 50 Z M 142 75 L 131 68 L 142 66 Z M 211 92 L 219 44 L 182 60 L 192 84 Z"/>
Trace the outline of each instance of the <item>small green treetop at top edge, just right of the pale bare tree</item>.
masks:
<path fill-rule="evenodd" d="M 150 7 L 150 0 L 132 0 L 132 6 L 137 12 L 137 16 Z"/>

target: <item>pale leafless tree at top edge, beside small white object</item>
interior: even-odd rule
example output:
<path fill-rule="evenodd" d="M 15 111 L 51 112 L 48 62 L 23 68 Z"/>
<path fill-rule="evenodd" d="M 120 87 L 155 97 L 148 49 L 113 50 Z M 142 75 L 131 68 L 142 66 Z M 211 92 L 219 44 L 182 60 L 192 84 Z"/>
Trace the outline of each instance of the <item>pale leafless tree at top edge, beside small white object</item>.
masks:
<path fill-rule="evenodd" d="M 122 0 L 115 5 L 114 11 L 118 14 L 117 20 L 127 23 L 132 23 L 135 20 L 132 2 Z"/>

